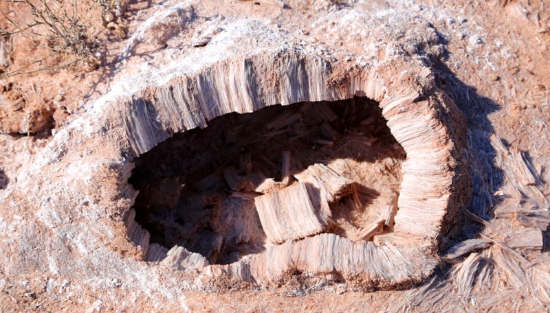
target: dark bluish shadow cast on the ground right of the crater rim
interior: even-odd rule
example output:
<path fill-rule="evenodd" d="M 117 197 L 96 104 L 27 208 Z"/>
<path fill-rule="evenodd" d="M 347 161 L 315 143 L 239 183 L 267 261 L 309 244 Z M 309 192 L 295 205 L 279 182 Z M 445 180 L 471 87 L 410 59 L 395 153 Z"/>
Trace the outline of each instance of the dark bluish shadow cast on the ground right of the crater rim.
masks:
<path fill-rule="evenodd" d="M 441 34 L 440 40 L 441 44 L 447 44 Z M 500 110 L 500 106 L 494 100 L 479 95 L 474 86 L 469 86 L 457 78 L 456 74 L 445 64 L 448 57 L 448 51 L 445 50 L 441 58 L 430 58 L 430 67 L 434 71 L 435 82 L 439 89 L 453 100 L 465 117 L 467 141 L 463 158 L 470 174 L 472 200 L 462 209 L 483 220 L 491 220 L 494 218 L 494 208 L 504 200 L 503 197 L 494 196 L 504 183 L 504 172 L 495 162 L 497 152 L 490 141 L 490 137 L 494 135 L 494 127 L 489 120 L 489 115 Z M 457 242 L 479 237 L 484 229 L 483 224 L 474 222 L 465 213 L 459 213 L 456 222 L 459 223 L 456 231 L 450 233 L 440 243 L 440 255 L 445 255 L 448 248 Z M 490 268 L 491 266 L 492 261 L 482 257 L 478 268 Z M 432 279 L 419 283 L 418 289 L 412 291 L 412 294 L 417 295 L 420 292 L 421 297 L 414 297 L 411 304 L 419 305 L 415 301 L 436 297 L 441 294 L 441 290 L 454 288 L 449 279 L 452 270 L 451 264 L 442 263 L 435 270 Z"/>

